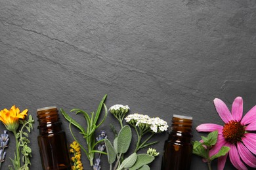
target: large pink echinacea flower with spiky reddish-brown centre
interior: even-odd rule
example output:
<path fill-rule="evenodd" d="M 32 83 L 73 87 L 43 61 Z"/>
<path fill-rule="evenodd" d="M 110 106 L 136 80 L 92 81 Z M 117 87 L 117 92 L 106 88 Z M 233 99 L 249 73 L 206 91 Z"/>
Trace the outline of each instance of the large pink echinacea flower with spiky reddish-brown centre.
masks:
<path fill-rule="evenodd" d="M 243 116 L 243 99 L 236 97 L 232 104 L 232 110 L 228 110 L 221 99 L 214 99 L 215 108 L 224 122 L 224 126 L 218 124 L 201 124 L 196 127 L 197 131 L 211 132 L 217 130 L 219 133 L 217 143 L 210 150 L 210 156 L 217 154 L 221 146 L 228 146 L 231 163 L 236 169 L 247 169 L 244 163 L 250 167 L 256 167 L 256 106 Z M 218 158 L 218 169 L 224 169 L 226 158 Z"/>

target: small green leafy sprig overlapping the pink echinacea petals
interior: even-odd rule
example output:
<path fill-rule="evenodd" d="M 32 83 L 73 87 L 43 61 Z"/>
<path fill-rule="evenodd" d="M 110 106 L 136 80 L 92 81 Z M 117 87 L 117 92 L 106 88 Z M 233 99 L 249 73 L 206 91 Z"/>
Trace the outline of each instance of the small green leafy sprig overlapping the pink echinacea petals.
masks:
<path fill-rule="evenodd" d="M 193 154 L 203 157 L 207 161 L 209 170 L 211 170 L 211 161 L 224 156 L 228 153 L 230 148 L 228 146 L 222 146 L 219 152 L 213 156 L 209 156 L 209 151 L 217 143 L 218 131 L 213 131 L 207 135 L 207 137 L 202 136 L 202 142 L 194 141 L 193 144 Z"/>

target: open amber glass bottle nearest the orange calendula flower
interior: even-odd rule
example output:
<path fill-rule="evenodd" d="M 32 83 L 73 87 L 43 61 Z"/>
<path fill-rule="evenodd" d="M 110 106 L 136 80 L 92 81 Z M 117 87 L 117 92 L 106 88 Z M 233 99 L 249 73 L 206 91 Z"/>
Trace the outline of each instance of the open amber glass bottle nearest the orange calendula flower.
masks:
<path fill-rule="evenodd" d="M 71 169 L 66 134 L 56 107 L 37 109 L 39 136 L 37 137 L 43 169 Z"/>

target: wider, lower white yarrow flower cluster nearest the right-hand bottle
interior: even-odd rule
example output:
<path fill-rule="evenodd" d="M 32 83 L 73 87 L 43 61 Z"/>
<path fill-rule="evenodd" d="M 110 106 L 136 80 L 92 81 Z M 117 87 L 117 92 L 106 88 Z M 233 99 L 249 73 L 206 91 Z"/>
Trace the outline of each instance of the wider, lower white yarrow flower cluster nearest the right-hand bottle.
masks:
<path fill-rule="evenodd" d="M 158 117 L 150 118 L 150 116 L 144 114 L 130 114 L 125 118 L 125 120 L 133 126 L 150 127 L 150 130 L 154 131 L 154 133 L 167 131 L 168 128 L 167 122 L 164 120 Z"/>

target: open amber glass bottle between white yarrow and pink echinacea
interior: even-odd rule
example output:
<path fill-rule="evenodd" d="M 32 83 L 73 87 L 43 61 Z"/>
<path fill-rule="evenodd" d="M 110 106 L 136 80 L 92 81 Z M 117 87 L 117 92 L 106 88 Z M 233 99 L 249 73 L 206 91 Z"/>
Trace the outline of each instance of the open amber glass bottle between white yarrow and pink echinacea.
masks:
<path fill-rule="evenodd" d="M 190 169 L 193 146 L 192 117 L 174 114 L 169 137 L 165 141 L 161 170 Z"/>

